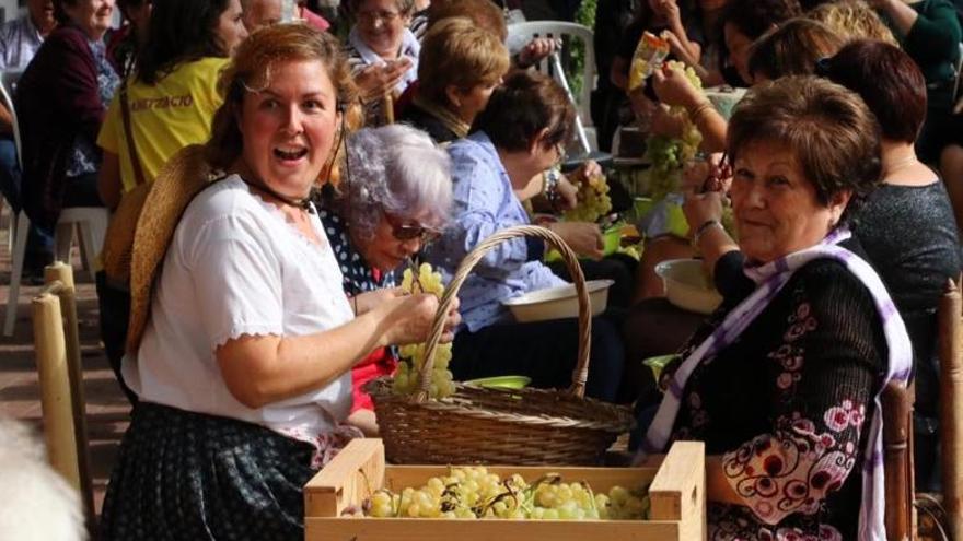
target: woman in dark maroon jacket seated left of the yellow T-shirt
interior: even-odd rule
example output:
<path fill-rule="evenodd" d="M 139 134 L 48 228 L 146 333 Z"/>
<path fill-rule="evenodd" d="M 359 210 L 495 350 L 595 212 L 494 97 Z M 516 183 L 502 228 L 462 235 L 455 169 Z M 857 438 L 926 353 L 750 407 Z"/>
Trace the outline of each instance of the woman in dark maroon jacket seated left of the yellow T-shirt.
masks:
<path fill-rule="evenodd" d="M 60 211 L 103 205 L 97 195 L 97 131 L 120 83 L 104 44 L 113 14 L 114 0 L 55 0 L 58 26 L 18 83 L 22 202 L 43 233 L 27 243 L 25 267 L 34 277 L 53 260 L 47 243 Z"/>

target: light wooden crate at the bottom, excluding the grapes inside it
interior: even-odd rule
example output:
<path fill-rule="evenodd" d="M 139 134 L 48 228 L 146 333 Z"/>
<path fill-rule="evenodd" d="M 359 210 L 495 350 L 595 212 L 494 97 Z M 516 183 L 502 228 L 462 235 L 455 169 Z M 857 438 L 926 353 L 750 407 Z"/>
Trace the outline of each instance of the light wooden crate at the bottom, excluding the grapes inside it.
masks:
<path fill-rule="evenodd" d="M 391 466 L 384 462 L 380 439 L 356 439 L 304 486 L 306 541 L 668 541 L 706 538 L 705 447 L 677 442 L 658 467 L 550 468 L 489 467 L 502 478 L 519 473 L 533 480 L 557 472 L 567 482 L 588 481 L 592 490 L 607 492 L 618 484 L 627 489 L 650 483 L 650 520 L 472 520 L 421 518 L 368 518 L 341 516 L 348 506 L 360 505 L 381 487 L 401 492 L 418 487 L 443 466 Z"/>

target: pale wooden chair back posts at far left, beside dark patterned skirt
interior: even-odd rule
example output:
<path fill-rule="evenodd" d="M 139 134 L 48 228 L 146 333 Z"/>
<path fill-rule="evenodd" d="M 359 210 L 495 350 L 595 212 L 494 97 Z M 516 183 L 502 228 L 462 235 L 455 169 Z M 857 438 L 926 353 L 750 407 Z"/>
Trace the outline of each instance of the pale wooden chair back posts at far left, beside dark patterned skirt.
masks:
<path fill-rule="evenodd" d="M 77 297 L 69 264 L 45 269 L 44 290 L 33 298 L 34 348 L 40 385 L 47 459 L 80 493 L 89 528 L 94 525 Z"/>

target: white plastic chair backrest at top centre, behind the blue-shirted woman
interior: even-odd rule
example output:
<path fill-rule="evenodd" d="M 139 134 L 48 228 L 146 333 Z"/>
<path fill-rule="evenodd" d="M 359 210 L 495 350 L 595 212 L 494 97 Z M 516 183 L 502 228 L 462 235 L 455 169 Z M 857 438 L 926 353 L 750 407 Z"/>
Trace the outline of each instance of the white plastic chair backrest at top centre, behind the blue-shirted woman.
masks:
<path fill-rule="evenodd" d="M 592 91 L 595 90 L 595 43 L 594 34 L 588 26 L 570 23 L 567 21 L 526 21 L 510 24 L 508 26 L 509 44 L 527 44 L 535 37 L 560 38 L 562 43 L 562 63 L 568 63 L 571 58 L 573 42 L 584 44 L 582 62 L 582 84 L 575 96 L 579 110 L 579 117 L 585 126 L 592 125 Z M 548 73 L 558 79 L 565 78 L 565 73 L 555 73 L 550 62 L 543 60 L 536 66 L 538 71 Z M 569 81 L 571 83 L 571 81 Z"/>

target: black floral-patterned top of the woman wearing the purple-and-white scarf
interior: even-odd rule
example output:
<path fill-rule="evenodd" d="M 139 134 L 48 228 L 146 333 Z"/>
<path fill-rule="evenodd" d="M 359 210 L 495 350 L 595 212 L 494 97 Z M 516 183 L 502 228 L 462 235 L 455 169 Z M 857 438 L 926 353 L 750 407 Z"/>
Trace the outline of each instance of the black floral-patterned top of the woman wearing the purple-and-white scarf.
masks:
<path fill-rule="evenodd" d="M 741 261 L 731 252 L 719 264 L 734 270 Z M 732 289 L 683 356 L 751 291 Z M 886 355 L 869 290 L 838 261 L 819 259 L 695 368 L 672 438 L 722 455 L 745 504 L 710 504 L 709 539 L 776 539 L 787 527 L 813 539 L 821 528 L 857 539 L 862 449 Z"/>

